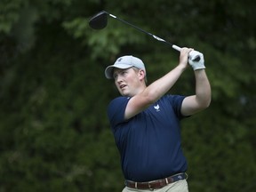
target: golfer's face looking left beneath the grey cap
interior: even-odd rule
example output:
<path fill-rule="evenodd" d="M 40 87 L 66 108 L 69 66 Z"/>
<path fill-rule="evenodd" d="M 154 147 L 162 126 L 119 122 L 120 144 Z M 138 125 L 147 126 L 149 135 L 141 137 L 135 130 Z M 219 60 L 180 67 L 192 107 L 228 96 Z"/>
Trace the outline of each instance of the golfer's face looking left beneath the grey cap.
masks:
<path fill-rule="evenodd" d="M 144 71 L 141 69 L 115 68 L 113 76 L 116 88 L 123 96 L 132 97 L 144 88 Z"/>

